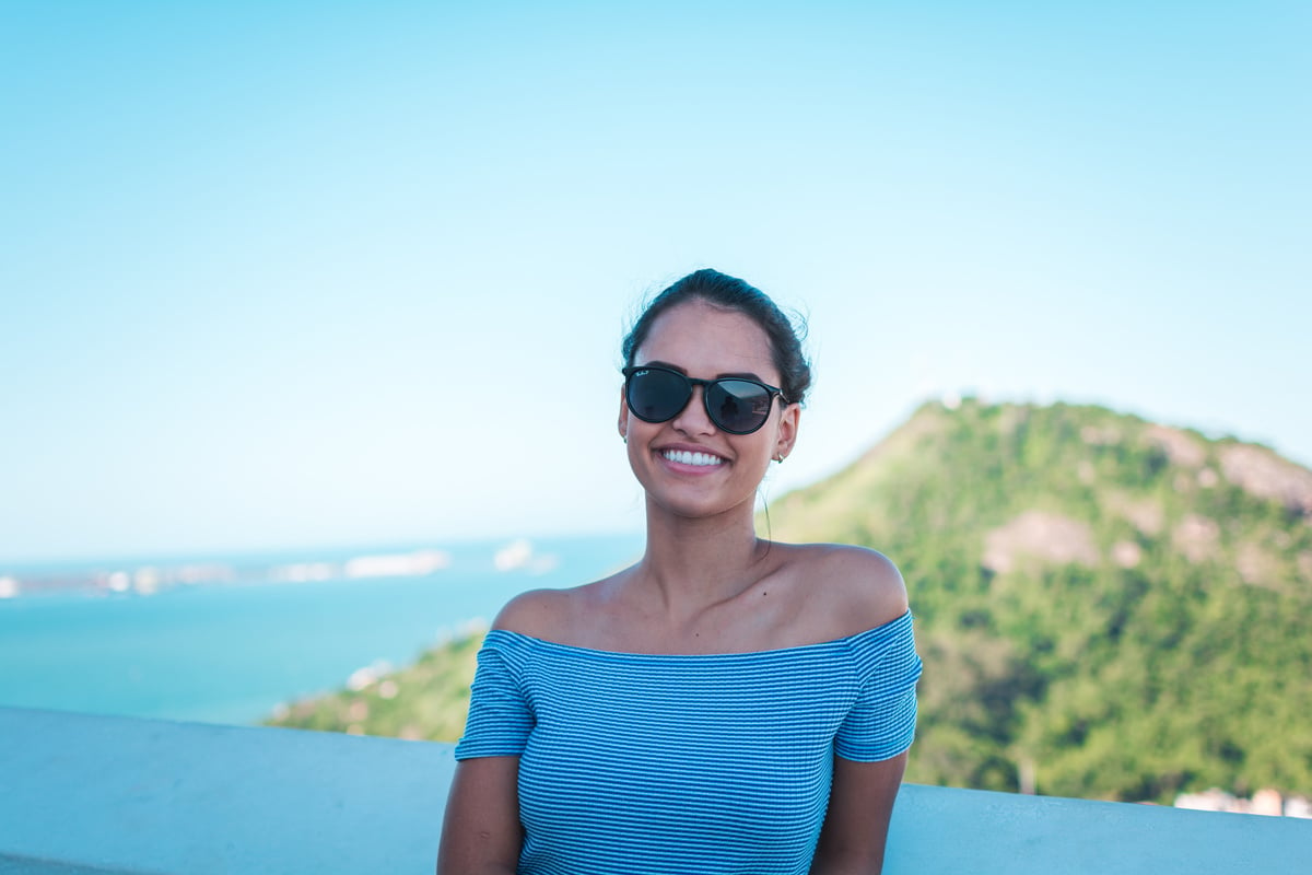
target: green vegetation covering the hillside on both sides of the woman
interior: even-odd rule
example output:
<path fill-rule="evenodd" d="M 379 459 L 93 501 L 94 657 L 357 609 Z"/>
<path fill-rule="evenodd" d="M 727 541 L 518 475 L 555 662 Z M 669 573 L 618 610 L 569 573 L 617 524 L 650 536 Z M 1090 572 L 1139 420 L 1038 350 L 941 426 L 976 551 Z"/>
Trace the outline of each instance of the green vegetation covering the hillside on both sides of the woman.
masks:
<path fill-rule="evenodd" d="M 932 403 L 769 527 L 899 561 L 925 660 L 911 781 L 1312 791 L 1312 472 L 1265 447 L 1097 407 Z M 392 698 L 282 723 L 454 739 L 476 643 Z"/>

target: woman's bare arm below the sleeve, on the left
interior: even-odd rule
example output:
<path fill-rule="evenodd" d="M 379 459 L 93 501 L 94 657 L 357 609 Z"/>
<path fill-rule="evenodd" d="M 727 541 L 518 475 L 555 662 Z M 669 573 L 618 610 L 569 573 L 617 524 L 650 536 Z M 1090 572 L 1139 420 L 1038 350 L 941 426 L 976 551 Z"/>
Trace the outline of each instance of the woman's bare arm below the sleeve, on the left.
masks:
<path fill-rule="evenodd" d="M 523 844 L 518 777 L 520 757 L 479 757 L 455 765 L 437 875 L 514 875 Z"/>

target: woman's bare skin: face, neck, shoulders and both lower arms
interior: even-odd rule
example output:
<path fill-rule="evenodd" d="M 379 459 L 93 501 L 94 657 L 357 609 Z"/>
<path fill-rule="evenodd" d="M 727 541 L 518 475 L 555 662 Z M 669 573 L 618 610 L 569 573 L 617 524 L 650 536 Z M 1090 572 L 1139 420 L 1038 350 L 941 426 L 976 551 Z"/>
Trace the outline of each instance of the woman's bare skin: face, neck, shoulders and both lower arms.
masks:
<path fill-rule="evenodd" d="M 703 302 L 652 323 L 635 365 L 689 376 L 752 375 L 779 384 L 769 337 L 750 317 Z M 672 420 L 644 422 L 619 399 L 619 434 L 647 504 L 647 551 L 593 584 L 514 598 L 495 628 L 596 649 L 733 653 L 828 641 L 891 622 L 907 592 L 883 555 L 838 544 L 783 544 L 757 537 L 757 488 L 771 459 L 794 449 L 800 408 L 774 400 L 766 424 L 728 434 L 711 422 L 701 387 Z M 710 467 L 669 450 L 711 454 Z M 812 875 L 880 871 L 905 754 L 882 762 L 834 760 L 829 811 Z M 518 757 L 457 766 L 438 855 L 440 875 L 514 872 L 522 833 Z"/>

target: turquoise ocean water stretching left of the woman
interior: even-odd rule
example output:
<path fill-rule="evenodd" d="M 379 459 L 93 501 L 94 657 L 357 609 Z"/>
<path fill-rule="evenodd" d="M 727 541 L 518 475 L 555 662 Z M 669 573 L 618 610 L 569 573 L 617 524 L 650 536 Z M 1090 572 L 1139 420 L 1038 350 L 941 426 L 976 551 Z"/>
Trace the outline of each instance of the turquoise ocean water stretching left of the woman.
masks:
<path fill-rule="evenodd" d="M 626 565 L 642 537 L 534 540 L 526 561 L 499 569 L 505 546 L 438 544 L 450 564 L 419 577 L 3 598 L 0 706 L 256 723 L 282 702 L 341 686 L 356 669 L 404 665 L 470 621 L 491 619 L 517 593 Z"/>

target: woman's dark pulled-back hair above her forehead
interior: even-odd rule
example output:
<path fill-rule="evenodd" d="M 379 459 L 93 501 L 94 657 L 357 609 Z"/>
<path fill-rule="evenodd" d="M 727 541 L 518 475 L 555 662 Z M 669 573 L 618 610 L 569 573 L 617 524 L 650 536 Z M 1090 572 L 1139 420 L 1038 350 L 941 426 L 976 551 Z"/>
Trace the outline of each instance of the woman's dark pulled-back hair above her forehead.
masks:
<path fill-rule="evenodd" d="M 760 289 L 710 268 L 687 274 L 647 303 L 621 346 L 626 367 L 632 366 L 634 356 L 651 333 L 652 323 L 661 314 L 690 300 L 705 300 L 720 310 L 737 311 L 760 325 L 770 338 L 770 352 L 779 371 L 783 400 L 790 404 L 803 401 L 811 387 L 811 363 L 802 352 L 806 324 L 799 317 L 794 325 L 778 304 Z"/>

